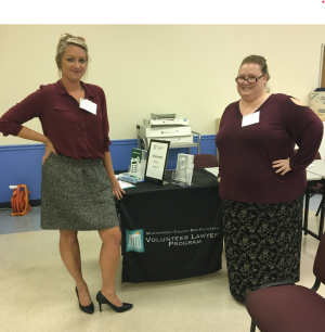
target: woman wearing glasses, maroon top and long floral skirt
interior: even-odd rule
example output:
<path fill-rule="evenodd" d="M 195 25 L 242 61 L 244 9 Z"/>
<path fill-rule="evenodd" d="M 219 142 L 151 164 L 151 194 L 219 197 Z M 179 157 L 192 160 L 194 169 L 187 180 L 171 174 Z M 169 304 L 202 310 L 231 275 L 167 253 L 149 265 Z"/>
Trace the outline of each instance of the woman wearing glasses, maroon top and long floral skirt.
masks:
<path fill-rule="evenodd" d="M 264 58 L 243 60 L 242 99 L 225 108 L 216 138 L 230 291 L 240 302 L 265 282 L 299 281 L 306 167 L 323 137 L 314 112 L 268 93 L 269 79 Z"/>

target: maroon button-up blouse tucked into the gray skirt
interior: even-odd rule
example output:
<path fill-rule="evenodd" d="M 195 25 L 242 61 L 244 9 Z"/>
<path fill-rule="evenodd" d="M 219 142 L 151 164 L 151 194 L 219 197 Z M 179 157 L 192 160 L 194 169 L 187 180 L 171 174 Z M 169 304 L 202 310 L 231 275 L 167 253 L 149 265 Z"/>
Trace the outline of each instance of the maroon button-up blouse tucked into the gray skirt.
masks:
<path fill-rule="evenodd" d="M 3 136 L 17 136 L 22 124 L 38 117 L 57 154 L 75 159 L 104 158 L 110 144 L 105 93 L 98 86 L 81 84 L 84 98 L 98 105 L 96 115 L 80 108 L 58 80 L 40 86 L 4 113 L 0 118 L 0 131 Z"/>

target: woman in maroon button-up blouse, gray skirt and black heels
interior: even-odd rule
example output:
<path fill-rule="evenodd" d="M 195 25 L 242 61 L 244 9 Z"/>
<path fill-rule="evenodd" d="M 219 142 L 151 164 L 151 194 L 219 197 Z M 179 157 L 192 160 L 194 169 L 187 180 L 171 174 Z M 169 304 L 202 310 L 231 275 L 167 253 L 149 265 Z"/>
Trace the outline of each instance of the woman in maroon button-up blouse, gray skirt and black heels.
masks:
<path fill-rule="evenodd" d="M 40 86 L 0 118 L 0 131 L 42 142 L 41 227 L 60 230 L 60 253 L 76 281 L 79 307 L 93 314 L 94 306 L 81 273 L 78 231 L 98 230 L 103 241 L 100 265 L 102 289 L 96 299 L 115 311 L 132 307 L 115 292 L 121 233 L 113 194 L 120 188 L 110 159 L 108 119 L 103 89 L 81 81 L 89 55 L 86 40 L 63 34 L 56 48 L 62 79 Z M 43 135 L 22 124 L 38 117 Z"/>

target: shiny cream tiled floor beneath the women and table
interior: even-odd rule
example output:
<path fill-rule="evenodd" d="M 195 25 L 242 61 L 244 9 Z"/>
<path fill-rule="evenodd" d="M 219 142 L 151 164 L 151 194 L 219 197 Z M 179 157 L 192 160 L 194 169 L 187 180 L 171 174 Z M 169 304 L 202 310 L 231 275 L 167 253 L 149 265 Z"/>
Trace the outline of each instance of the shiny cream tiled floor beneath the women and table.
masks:
<path fill-rule="evenodd" d="M 310 205 L 315 210 L 315 201 Z M 78 308 L 73 279 L 58 255 L 58 232 L 40 230 L 40 208 L 24 217 L 0 210 L 0 331 L 249 331 L 250 319 L 243 304 L 229 293 L 225 261 L 221 271 L 208 276 L 156 283 L 121 283 L 121 264 L 116 288 L 120 298 L 134 304 L 125 314 L 107 306 L 90 316 Z M 318 228 L 318 217 L 310 210 L 310 229 Z M 83 276 L 92 299 L 101 288 L 95 231 L 79 233 Z M 301 280 L 314 283 L 312 265 L 318 241 L 303 235 Z M 122 258 L 121 258 L 122 259 Z M 318 293 L 325 296 L 325 286 Z"/>

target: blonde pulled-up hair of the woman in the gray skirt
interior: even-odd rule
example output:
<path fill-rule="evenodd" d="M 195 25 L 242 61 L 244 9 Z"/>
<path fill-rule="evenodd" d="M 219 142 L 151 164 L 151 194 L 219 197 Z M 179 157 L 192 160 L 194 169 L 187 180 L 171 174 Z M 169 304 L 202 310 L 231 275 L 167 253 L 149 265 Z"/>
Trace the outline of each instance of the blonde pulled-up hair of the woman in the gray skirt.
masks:
<path fill-rule="evenodd" d="M 62 58 L 65 53 L 65 50 L 68 46 L 74 44 L 84 50 L 86 52 L 86 75 L 88 71 L 88 63 L 90 61 L 90 56 L 88 54 L 88 47 L 86 43 L 86 39 L 82 37 L 72 36 L 69 34 L 62 34 L 58 43 L 56 47 L 55 62 L 58 69 L 58 76 L 61 77 L 61 68 L 62 68 Z"/>

